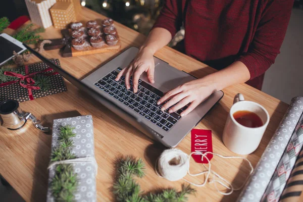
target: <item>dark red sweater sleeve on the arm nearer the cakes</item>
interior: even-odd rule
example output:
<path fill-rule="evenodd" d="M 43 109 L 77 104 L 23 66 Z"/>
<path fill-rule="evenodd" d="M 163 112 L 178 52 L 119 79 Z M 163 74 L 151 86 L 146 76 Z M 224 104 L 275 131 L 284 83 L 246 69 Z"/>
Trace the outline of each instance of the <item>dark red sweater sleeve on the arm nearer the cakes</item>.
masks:
<path fill-rule="evenodd" d="M 181 1 L 166 0 L 153 28 L 167 29 L 173 38 L 182 25 L 181 7 Z"/>

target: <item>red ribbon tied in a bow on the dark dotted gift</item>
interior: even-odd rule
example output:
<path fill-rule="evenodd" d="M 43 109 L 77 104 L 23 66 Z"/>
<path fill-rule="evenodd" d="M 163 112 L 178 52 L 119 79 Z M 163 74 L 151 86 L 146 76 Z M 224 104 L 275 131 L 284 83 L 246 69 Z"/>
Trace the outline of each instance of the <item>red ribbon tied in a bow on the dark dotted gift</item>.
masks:
<path fill-rule="evenodd" d="M 52 71 L 53 69 L 52 69 L 52 68 L 47 68 L 47 69 L 45 69 L 45 70 L 43 70 L 43 71 L 33 72 L 33 73 L 30 73 L 30 74 L 29 74 L 28 66 L 25 66 L 24 68 L 25 68 L 25 75 L 24 75 L 24 76 L 23 76 L 22 74 L 17 74 L 17 73 L 14 73 L 14 72 L 5 71 L 5 72 L 4 72 L 4 75 L 17 77 L 17 78 L 19 78 L 19 79 L 16 80 L 16 81 L 9 81 L 9 82 L 5 82 L 5 83 L 1 83 L 1 84 L 0 84 L 0 87 L 7 86 L 7 85 L 10 85 L 10 84 L 12 84 L 12 83 L 17 83 L 17 82 L 19 82 L 19 84 L 20 84 L 22 87 L 27 88 L 29 99 L 30 99 L 30 100 L 33 100 L 34 97 L 33 97 L 32 90 L 39 90 L 40 87 L 34 86 L 35 81 L 34 81 L 34 79 L 32 79 L 32 77 L 34 77 L 36 74 L 39 74 L 39 73 Z M 52 73 L 43 74 L 43 75 L 45 75 L 45 76 L 51 76 L 51 75 L 56 75 L 56 74 L 58 74 L 58 72 L 52 72 Z"/>

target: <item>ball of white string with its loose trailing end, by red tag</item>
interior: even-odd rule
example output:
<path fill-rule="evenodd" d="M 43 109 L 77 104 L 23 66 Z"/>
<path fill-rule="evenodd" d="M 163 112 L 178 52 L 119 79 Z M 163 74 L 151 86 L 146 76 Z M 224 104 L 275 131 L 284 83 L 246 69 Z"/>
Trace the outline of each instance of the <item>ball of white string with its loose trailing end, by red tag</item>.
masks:
<path fill-rule="evenodd" d="M 190 157 L 193 154 L 201 155 L 202 161 L 204 158 L 208 161 L 208 167 L 205 164 L 203 164 L 203 166 L 205 168 L 207 168 L 206 171 L 202 171 L 202 172 L 194 173 L 194 174 L 190 173 L 190 171 L 189 171 L 190 163 L 189 162 L 190 162 Z M 227 179 L 225 179 L 224 177 L 222 177 L 215 171 L 211 170 L 211 162 L 207 157 L 208 154 L 213 154 L 213 155 L 221 157 L 223 159 L 243 159 L 243 160 L 247 161 L 249 164 L 249 167 L 250 167 L 249 175 L 246 177 L 246 179 L 244 180 L 244 182 L 242 183 L 242 185 L 240 187 L 234 188 L 234 186 L 231 184 L 231 182 L 229 182 Z M 159 173 L 157 170 L 157 166 L 159 169 Z M 249 160 L 244 157 L 235 157 L 235 156 L 226 157 L 226 156 L 222 156 L 222 155 L 219 155 L 216 153 L 212 153 L 210 151 L 207 151 L 206 153 L 201 153 L 200 151 L 194 151 L 194 152 L 190 153 L 189 155 L 187 155 L 182 150 L 174 148 L 174 149 L 166 149 L 165 151 L 163 151 L 161 156 L 156 161 L 155 171 L 158 176 L 163 177 L 170 181 L 180 180 L 183 177 L 185 177 L 187 175 L 187 173 L 190 176 L 199 176 L 199 175 L 206 174 L 205 180 L 201 184 L 196 184 L 196 183 L 190 182 L 186 179 L 183 179 L 183 180 L 188 182 L 189 184 L 192 184 L 197 187 L 203 187 L 206 185 L 207 182 L 213 183 L 219 193 L 221 193 L 223 195 L 230 195 L 233 191 L 238 191 L 243 188 L 246 181 L 250 177 L 251 173 L 254 172 L 254 167 L 252 167 Z M 213 174 L 213 179 L 211 181 L 209 181 L 211 173 Z M 217 180 L 216 178 L 219 178 L 219 180 Z M 230 189 L 230 191 L 227 193 L 220 191 L 217 186 L 217 183 L 221 184 L 222 186 L 224 186 L 227 189 Z"/>

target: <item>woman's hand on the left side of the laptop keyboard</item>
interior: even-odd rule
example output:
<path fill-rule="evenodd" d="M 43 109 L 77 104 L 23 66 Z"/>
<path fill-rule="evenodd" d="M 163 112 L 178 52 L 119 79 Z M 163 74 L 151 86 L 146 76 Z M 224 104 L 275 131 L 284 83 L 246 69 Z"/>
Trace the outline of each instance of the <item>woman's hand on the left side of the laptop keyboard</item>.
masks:
<path fill-rule="evenodd" d="M 141 48 L 131 63 L 120 71 L 120 73 L 117 75 L 116 81 L 119 81 L 121 76 L 125 75 L 125 85 L 126 88 L 129 89 L 130 76 L 132 75 L 133 89 L 135 93 L 138 91 L 138 81 L 143 72 L 147 73 L 149 82 L 154 83 L 155 62 L 153 55 L 153 51 L 151 51 L 148 47 Z"/>

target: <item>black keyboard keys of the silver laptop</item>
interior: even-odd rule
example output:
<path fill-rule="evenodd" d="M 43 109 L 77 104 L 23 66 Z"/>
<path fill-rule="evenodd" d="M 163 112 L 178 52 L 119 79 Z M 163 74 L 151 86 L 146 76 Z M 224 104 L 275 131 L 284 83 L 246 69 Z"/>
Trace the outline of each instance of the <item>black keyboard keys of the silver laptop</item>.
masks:
<path fill-rule="evenodd" d="M 94 85 L 113 96 L 151 123 L 154 123 L 165 131 L 169 131 L 181 119 L 180 114 L 187 106 L 178 110 L 176 113 L 168 113 L 169 109 L 162 112 L 160 110 L 162 105 L 158 106 L 157 102 L 163 96 L 163 92 L 141 79 L 139 79 L 138 91 L 136 93 L 133 92 L 132 87 L 127 90 L 124 76 L 122 76 L 119 81 L 115 81 L 118 72 L 121 70 L 120 67 L 117 68 L 95 82 Z M 130 84 L 132 86 L 132 78 L 130 79 Z"/>

